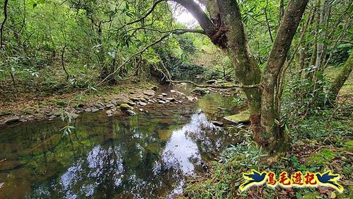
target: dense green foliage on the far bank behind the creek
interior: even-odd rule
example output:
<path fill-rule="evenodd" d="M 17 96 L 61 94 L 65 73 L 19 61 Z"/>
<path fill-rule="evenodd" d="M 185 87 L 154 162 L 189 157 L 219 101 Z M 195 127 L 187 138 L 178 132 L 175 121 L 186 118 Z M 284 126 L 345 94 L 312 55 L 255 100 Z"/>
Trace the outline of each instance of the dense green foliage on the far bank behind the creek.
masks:
<path fill-rule="evenodd" d="M 169 23 L 169 4 L 158 4 L 151 15 L 132 23 L 152 4 L 152 0 L 10 1 L 0 53 L 0 83 L 4 82 L 0 86 L 20 93 L 65 93 L 91 89 L 107 76 L 110 83 L 147 79 L 161 64 L 158 50 L 170 52 L 172 66 L 197 68 L 187 62 L 197 54 L 197 35 L 170 35 L 155 49 L 139 53 L 168 30 L 185 28 Z"/>

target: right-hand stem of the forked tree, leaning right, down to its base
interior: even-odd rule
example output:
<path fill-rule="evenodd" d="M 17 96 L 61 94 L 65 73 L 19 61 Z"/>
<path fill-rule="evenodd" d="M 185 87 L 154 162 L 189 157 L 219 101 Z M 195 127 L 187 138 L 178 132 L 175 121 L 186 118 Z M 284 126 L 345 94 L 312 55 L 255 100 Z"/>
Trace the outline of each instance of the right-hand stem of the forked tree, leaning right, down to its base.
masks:
<path fill-rule="evenodd" d="M 287 147 L 284 132 L 279 124 L 279 110 L 277 110 L 277 106 L 274 106 L 277 104 L 275 101 L 277 99 L 277 78 L 284 65 L 306 4 L 308 4 L 308 0 L 289 1 L 287 11 L 284 13 L 276 39 L 272 45 L 267 66 L 262 72 L 261 140 L 257 142 L 260 142 L 270 152 L 281 151 Z"/>

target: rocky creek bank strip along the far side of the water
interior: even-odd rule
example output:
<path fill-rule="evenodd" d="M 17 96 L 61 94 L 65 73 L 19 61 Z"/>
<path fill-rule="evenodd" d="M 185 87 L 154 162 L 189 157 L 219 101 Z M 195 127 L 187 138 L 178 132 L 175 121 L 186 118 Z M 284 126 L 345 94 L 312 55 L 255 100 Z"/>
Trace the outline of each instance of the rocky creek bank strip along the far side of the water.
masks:
<path fill-rule="evenodd" d="M 0 125 L 32 120 L 54 120 L 63 113 L 69 114 L 74 119 L 79 117 L 80 113 L 96 113 L 103 110 L 108 117 L 114 115 L 133 116 L 136 115 L 134 108 L 140 112 L 148 113 L 144 107 L 151 106 L 153 103 L 181 104 L 183 101 L 198 101 L 204 93 L 216 92 L 222 96 L 233 96 L 234 93 L 238 93 L 238 90 L 235 89 L 202 88 L 202 92 L 192 92 L 190 95 L 176 89 L 156 95 L 156 85 L 146 85 L 130 85 L 125 89 L 108 87 L 109 91 L 84 96 L 86 100 L 81 100 L 83 96 L 80 96 L 80 93 L 72 93 L 71 95 L 50 96 L 48 98 L 21 99 L 21 106 L 18 106 L 18 102 L 7 103 L 5 106 L 4 102 L 1 102 L 3 106 L 0 108 Z M 179 86 L 185 86 L 185 84 L 181 83 Z M 221 122 L 215 122 L 218 126 L 223 125 Z"/>

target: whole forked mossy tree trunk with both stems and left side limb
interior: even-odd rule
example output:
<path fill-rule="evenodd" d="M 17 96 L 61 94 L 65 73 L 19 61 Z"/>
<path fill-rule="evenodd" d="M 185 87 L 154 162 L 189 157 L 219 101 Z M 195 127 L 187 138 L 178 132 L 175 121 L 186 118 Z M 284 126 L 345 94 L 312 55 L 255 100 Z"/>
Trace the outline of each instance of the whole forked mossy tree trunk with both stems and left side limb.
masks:
<path fill-rule="evenodd" d="M 278 110 L 275 105 L 277 78 L 284 65 L 296 28 L 299 26 L 308 0 L 291 0 L 282 17 L 270 58 L 264 72 L 260 72 L 256 60 L 250 52 L 241 11 L 234 0 L 204 0 L 209 18 L 195 1 L 174 0 L 187 8 L 197 19 L 212 42 L 226 51 L 231 58 L 238 81 L 243 85 L 260 84 L 257 88 L 244 88 L 248 98 L 254 140 L 267 152 L 277 152 L 285 143 L 279 127 Z"/>

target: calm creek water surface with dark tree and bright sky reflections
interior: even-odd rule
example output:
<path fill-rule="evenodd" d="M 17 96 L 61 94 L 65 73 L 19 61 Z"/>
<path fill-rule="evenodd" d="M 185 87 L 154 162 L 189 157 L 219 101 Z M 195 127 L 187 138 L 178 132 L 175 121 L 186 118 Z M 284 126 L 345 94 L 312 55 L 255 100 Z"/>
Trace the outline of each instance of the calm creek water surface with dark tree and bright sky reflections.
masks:
<path fill-rule="evenodd" d="M 222 116 L 217 106 L 231 108 L 230 99 L 154 103 L 134 117 L 87 113 L 69 137 L 60 120 L 3 126 L 0 198 L 173 198 L 185 176 L 233 142 L 209 122 Z"/>

